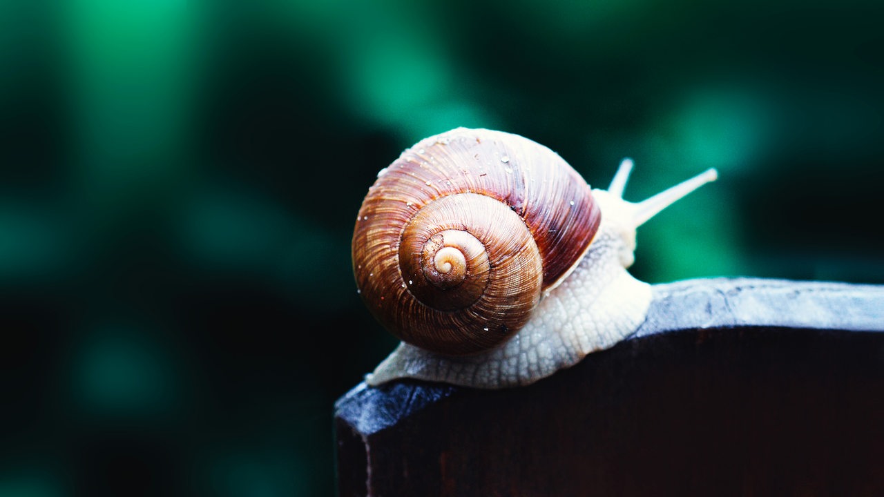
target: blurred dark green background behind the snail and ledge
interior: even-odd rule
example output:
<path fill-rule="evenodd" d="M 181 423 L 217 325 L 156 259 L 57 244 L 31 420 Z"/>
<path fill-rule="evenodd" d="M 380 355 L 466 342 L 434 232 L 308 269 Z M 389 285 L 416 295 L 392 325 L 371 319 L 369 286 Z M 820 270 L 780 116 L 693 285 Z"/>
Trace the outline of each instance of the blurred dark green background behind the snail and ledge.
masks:
<path fill-rule="evenodd" d="M 349 242 L 454 126 L 640 200 L 634 273 L 884 283 L 884 6 L 0 0 L 0 495 L 323 495 Z"/>

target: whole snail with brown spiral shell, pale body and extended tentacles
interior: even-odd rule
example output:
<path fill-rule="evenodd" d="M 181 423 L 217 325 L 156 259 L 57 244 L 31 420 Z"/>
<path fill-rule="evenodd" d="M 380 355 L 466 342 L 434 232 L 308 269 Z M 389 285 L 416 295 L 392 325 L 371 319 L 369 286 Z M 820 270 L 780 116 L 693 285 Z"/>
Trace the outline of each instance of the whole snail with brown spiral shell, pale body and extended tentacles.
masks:
<path fill-rule="evenodd" d="M 366 383 L 528 385 L 635 332 L 652 298 L 626 271 L 636 227 L 717 172 L 629 203 L 631 169 L 591 189 L 551 149 L 487 129 L 403 151 L 354 228 L 357 291 L 402 340 Z"/>

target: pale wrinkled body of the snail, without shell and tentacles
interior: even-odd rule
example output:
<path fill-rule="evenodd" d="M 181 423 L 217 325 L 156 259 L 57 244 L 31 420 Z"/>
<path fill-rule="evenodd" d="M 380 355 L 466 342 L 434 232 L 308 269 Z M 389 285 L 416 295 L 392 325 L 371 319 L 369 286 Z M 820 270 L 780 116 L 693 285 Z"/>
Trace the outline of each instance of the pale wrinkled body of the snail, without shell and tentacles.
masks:
<path fill-rule="evenodd" d="M 633 278 L 622 264 L 631 263 L 635 228 L 623 218 L 629 210 L 621 214 L 619 199 L 606 193 L 593 191 L 603 217 L 590 250 L 501 347 L 452 357 L 402 342 L 366 376 L 366 383 L 416 378 L 476 388 L 528 385 L 634 333 L 651 305 L 651 286 Z"/>

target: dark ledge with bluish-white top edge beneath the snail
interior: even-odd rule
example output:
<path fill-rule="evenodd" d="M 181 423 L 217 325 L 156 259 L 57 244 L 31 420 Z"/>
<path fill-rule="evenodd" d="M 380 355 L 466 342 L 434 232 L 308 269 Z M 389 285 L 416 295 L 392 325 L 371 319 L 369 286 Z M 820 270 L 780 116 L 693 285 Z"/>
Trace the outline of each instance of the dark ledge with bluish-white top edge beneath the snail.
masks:
<path fill-rule="evenodd" d="M 654 287 L 634 337 L 531 386 L 356 386 L 353 495 L 884 495 L 884 287 Z"/>

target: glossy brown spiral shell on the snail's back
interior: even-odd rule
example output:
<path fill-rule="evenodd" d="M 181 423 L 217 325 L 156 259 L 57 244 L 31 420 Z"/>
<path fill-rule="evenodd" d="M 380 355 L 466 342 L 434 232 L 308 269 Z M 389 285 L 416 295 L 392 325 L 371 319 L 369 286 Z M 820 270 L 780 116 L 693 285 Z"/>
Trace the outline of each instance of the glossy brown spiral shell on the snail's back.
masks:
<path fill-rule="evenodd" d="M 356 284 L 401 340 L 473 354 L 527 322 L 599 221 L 589 185 L 552 150 L 457 128 L 378 173 L 354 229 Z"/>

